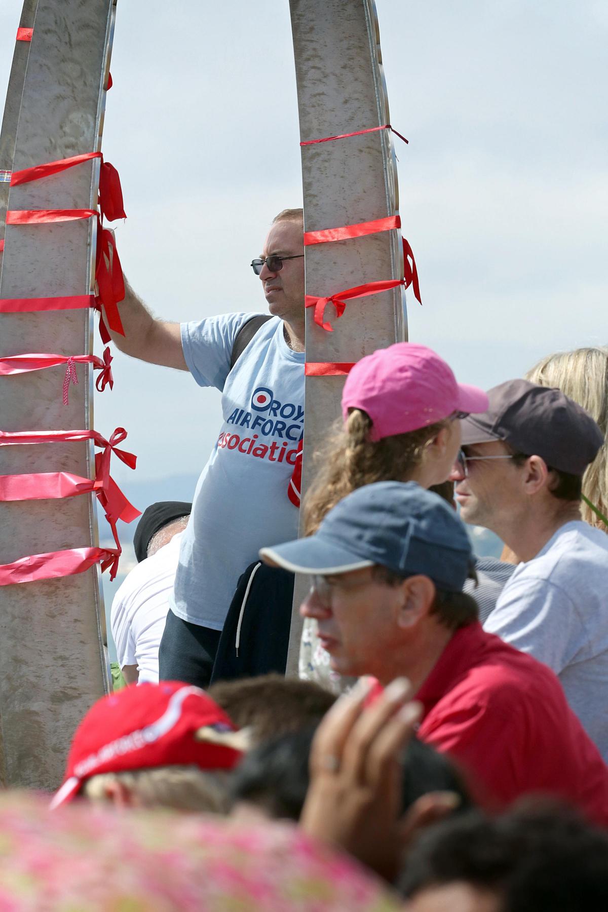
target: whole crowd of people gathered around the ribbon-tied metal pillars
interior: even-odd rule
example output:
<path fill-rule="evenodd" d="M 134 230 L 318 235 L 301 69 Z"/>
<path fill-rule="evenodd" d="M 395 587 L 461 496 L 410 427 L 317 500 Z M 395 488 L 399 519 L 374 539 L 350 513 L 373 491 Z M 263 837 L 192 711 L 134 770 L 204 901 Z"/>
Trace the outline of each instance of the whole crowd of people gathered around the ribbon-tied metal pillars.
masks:
<path fill-rule="evenodd" d="M 127 286 L 114 340 L 220 389 L 222 428 L 192 503 L 139 521 L 111 611 L 126 686 L 50 813 L 0 798 L 0 905 L 603 912 L 608 348 L 487 392 L 378 349 L 300 505 L 302 235 L 284 210 L 252 261 L 270 318 L 180 326 Z"/>

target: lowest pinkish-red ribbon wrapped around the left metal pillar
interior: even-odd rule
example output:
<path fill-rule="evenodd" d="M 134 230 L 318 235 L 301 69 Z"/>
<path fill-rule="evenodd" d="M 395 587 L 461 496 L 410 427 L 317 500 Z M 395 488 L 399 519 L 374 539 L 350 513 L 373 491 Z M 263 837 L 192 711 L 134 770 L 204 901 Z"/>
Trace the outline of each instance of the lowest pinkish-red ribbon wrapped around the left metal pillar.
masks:
<path fill-rule="evenodd" d="M 67 551 L 28 554 L 12 564 L 0 565 L 0 586 L 84 573 L 99 562 L 102 573 L 108 566 L 111 567 L 109 578 L 113 580 L 119 569 L 120 554 L 119 548 L 70 548 Z"/>

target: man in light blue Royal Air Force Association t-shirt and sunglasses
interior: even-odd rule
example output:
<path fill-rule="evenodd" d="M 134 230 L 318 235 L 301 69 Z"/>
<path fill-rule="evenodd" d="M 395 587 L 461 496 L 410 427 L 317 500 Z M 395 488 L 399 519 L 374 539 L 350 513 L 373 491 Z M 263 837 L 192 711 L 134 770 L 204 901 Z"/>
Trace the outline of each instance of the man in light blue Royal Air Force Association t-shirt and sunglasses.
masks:
<path fill-rule="evenodd" d="M 303 234 L 302 210 L 283 210 L 273 220 L 263 254 L 252 262 L 272 318 L 233 366 L 232 349 L 253 314 L 166 323 L 129 285 L 119 305 L 125 335 L 111 335 L 122 351 L 189 370 L 199 386 L 222 392 L 222 427 L 181 538 L 161 679 L 208 685 L 239 576 L 264 544 L 297 534 L 288 490 L 304 436 Z"/>

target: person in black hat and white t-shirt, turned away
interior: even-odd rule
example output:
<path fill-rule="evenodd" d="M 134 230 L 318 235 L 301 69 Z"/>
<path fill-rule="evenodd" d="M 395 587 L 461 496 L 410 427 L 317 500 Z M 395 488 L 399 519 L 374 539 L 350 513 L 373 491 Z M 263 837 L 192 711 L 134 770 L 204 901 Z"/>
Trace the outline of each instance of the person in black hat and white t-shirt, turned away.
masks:
<path fill-rule="evenodd" d="M 160 638 L 191 508 L 182 501 L 152 503 L 135 531 L 139 563 L 119 586 L 110 611 L 112 638 L 128 684 L 159 680 Z"/>

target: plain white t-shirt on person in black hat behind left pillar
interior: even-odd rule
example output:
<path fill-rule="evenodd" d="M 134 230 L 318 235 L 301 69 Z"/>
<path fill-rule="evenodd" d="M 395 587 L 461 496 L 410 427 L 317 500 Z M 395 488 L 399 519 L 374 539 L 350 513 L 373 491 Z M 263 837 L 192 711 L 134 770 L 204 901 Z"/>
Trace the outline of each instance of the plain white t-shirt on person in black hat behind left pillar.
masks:
<path fill-rule="evenodd" d="M 112 602 L 110 628 L 120 668 L 137 665 L 139 684 L 158 683 L 160 637 L 180 557 L 183 533 L 134 567 Z"/>

